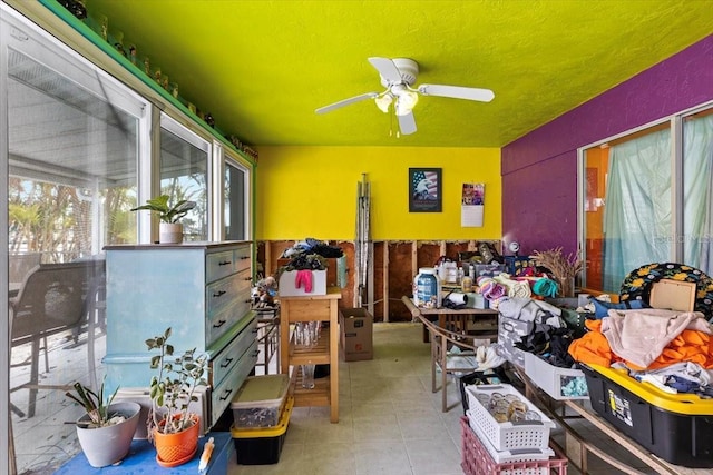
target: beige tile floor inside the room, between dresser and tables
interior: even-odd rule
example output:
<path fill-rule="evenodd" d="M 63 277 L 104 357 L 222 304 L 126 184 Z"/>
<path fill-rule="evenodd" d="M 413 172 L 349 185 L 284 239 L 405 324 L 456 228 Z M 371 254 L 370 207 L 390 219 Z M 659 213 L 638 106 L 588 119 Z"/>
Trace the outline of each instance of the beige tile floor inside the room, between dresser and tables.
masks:
<path fill-rule="evenodd" d="M 228 474 L 461 475 L 458 386 L 449 384 L 452 408 L 442 413 L 440 392 L 431 393 L 430 346 L 422 343 L 421 326 L 375 324 L 373 339 L 372 360 L 340 363 L 339 424 L 330 424 L 326 407 L 294 408 L 279 463 L 237 465 L 233 456 Z M 560 431 L 553 435 L 561 439 Z M 587 437 L 617 451 L 596 429 Z M 590 457 L 589 474 L 618 473 Z"/>

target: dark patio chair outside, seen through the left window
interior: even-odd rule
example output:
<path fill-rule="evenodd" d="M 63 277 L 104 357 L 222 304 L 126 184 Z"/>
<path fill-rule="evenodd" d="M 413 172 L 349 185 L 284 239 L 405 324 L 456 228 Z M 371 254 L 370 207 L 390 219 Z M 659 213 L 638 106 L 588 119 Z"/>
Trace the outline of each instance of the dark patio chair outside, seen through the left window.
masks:
<path fill-rule="evenodd" d="M 28 417 L 35 415 L 38 389 L 69 387 L 38 384 L 40 349 L 45 349 L 45 367 L 49 370 L 47 337 L 67 330 L 80 330 L 87 325 L 89 374 L 96 379 L 91 320 L 95 318 L 97 293 L 102 288 L 98 281 L 102 278 L 104 261 L 99 260 L 40 265 L 27 275 L 17 297 L 8 300 L 12 347 L 31 345 L 29 360 L 19 364 L 30 365 L 30 380 L 10 389 L 30 390 Z M 90 309 L 91 319 L 88 318 Z M 12 410 L 21 417 L 25 415 L 16 406 L 12 406 Z"/>

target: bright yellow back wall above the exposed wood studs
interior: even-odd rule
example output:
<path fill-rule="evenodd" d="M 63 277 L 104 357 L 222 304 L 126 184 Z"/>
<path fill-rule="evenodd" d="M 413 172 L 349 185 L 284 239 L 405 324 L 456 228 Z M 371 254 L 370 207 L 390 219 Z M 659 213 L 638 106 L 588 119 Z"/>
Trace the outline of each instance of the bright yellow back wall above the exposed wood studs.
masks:
<path fill-rule="evenodd" d="M 498 148 L 260 147 L 257 240 L 353 240 L 356 184 L 371 182 L 374 240 L 500 239 Z M 410 167 L 442 168 L 442 212 L 409 212 Z M 485 184 L 480 228 L 460 226 L 463 182 Z"/>

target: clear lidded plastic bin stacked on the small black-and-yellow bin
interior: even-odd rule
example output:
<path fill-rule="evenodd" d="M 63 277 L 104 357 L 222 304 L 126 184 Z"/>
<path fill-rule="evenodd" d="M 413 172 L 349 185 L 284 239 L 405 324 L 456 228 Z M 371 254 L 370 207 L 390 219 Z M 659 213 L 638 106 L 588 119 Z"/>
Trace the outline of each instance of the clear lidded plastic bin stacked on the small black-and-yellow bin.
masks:
<path fill-rule="evenodd" d="M 231 403 L 233 426 L 253 428 L 280 424 L 289 387 L 287 375 L 251 376 L 245 379 Z"/>

